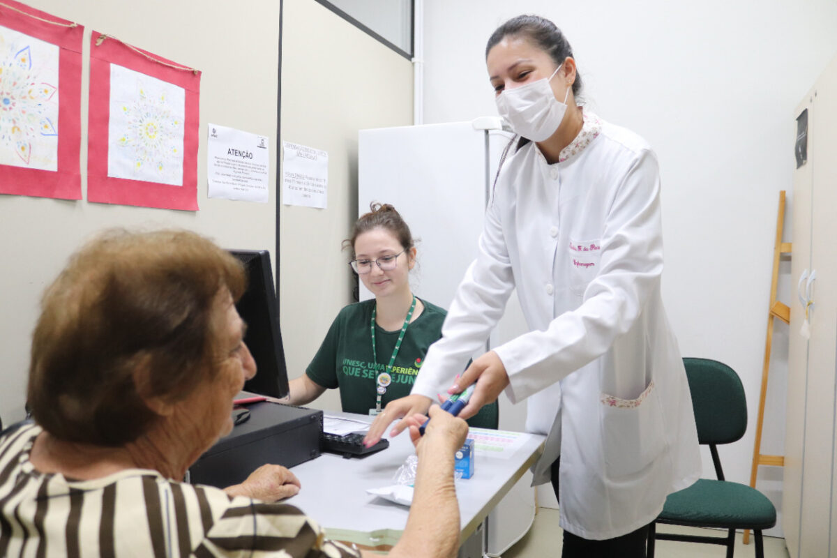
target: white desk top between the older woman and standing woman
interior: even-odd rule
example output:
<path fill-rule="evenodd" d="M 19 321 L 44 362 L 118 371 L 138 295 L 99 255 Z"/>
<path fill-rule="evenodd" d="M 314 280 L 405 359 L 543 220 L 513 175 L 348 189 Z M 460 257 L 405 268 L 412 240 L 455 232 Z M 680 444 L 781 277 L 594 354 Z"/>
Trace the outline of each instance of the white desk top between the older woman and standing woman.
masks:
<path fill-rule="evenodd" d="M 362 415 L 345 416 L 365 422 L 372 420 Z M 490 510 L 542 452 L 545 437 L 527 433 L 517 437 L 521 445 L 513 453 L 478 450 L 474 476 L 457 481 L 460 543 L 475 533 Z M 389 448 L 365 458 L 345 459 L 324 453 L 295 466 L 292 470 L 300 479 L 302 489 L 287 502 L 316 520 L 330 539 L 388 550 L 401 536 L 409 509 L 367 494 L 366 490 L 394 484 L 396 470 L 414 453 L 408 433 L 391 438 L 389 443 Z"/>

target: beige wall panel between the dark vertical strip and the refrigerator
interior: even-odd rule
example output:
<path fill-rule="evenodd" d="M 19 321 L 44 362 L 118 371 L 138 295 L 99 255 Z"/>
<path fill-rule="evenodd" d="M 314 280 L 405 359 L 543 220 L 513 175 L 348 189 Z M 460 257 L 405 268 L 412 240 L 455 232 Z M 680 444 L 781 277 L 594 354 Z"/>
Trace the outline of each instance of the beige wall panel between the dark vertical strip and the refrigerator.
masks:
<path fill-rule="evenodd" d="M 357 218 L 357 131 L 410 125 L 413 69 L 314 0 L 285 0 L 281 139 L 328 151 L 328 207 L 280 208 L 280 316 L 290 377 L 351 301 L 341 241 Z M 313 407 L 339 409 L 336 391 Z"/>

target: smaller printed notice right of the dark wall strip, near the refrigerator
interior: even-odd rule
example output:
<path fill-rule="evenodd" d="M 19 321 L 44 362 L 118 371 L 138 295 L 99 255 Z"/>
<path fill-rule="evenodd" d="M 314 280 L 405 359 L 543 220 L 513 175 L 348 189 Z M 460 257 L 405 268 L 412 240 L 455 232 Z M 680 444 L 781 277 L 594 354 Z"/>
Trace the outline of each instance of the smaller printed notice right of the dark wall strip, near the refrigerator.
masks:
<path fill-rule="evenodd" d="M 285 205 L 326 208 L 328 153 L 285 141 L 282 202 Z"/>

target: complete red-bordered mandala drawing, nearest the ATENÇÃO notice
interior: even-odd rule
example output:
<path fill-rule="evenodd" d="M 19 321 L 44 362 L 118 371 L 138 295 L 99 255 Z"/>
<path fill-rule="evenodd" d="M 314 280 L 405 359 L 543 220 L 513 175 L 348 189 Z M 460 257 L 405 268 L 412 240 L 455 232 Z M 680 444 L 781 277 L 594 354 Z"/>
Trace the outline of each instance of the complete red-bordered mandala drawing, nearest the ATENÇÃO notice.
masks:
<path fill-rule="evenodd" d="M 198 209 L 200 79 L 197 70 L 92 33 L 88 201 Z"/>

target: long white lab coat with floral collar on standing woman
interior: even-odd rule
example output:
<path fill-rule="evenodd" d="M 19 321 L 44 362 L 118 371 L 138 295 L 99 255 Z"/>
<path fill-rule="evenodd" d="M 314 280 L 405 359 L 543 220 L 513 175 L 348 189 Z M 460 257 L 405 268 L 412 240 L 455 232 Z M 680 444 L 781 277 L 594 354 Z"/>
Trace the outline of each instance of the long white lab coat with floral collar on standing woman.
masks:
<path fill-rule="evenodd" d="M 561 526 L 585 539 L 649 524 L 701 474 L 695 418 L 660 296 L 660 176 L 650 146 L 603 122 L 567 161 L 534 144 L 510 156 L 443 337 L 413 393 L 445 392 L 517 288 L 530 332 L 496 347 L 526 429 L 547 434 L 533 468 L 560 454 Z"/>

